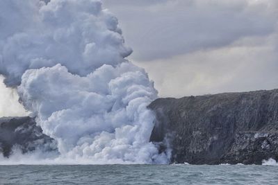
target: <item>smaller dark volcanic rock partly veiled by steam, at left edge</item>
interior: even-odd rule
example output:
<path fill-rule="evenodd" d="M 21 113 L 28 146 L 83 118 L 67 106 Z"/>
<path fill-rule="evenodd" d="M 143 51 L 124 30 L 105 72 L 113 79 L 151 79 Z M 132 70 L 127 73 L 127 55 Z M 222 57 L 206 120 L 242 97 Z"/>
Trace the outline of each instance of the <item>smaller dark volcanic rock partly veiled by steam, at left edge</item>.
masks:
<path fill-rule="evenodd" d="M 54 139 L 42 134 L 42 129 L 29 117 L 0 118 L 0 152 L 9 157 L 12 148 L 17 147 L 22 153 L 41 150 L 56 150 Z"/>

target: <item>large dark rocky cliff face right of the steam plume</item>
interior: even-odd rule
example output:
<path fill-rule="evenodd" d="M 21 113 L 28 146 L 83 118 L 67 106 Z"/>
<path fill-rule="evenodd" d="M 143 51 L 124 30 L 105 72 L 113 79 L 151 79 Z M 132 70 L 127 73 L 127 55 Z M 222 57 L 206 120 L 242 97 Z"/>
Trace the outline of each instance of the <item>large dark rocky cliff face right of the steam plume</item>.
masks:
<path fill-rule="evenodd" d="M 150 141 L 172 148 L 172 162 L 261 164 L 278 159 L 278 89 L 159 98 Z"/>

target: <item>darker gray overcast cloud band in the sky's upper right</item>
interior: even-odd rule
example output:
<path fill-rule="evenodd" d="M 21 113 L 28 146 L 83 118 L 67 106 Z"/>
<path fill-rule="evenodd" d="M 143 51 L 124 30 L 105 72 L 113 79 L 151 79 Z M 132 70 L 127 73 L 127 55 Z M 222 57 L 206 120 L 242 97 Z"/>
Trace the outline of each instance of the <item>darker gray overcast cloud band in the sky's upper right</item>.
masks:
<path fill-rule="evenodd" d="M 227 46 L 275 32 L 277 1 L 104 0 L 119 18 L 133 59 L 149 61 Z M 140 3 L 139 3 L 140 2 Z"/>

